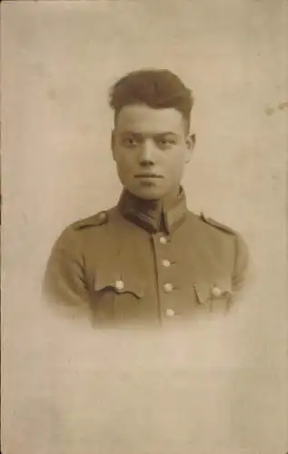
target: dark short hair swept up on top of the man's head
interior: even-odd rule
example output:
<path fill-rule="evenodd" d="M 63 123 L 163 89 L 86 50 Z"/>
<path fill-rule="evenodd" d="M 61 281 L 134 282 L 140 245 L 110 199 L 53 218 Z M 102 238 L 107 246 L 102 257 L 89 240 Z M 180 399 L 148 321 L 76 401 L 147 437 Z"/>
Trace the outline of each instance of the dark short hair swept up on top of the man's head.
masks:
<path fill-rule="evenodd" d="M 109 104 L 117 114 L 125 105 L 146 104 L 154 109 L 174 108 L 190 124 L 192 91 L 167 69 L 141 69 L 124 75 L 110 90 Z"/>

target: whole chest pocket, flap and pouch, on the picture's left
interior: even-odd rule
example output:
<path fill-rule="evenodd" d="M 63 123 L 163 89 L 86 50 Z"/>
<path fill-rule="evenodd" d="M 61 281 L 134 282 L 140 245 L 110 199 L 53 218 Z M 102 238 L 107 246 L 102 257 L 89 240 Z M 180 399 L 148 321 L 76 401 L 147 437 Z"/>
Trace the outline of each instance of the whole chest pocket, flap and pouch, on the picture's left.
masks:
<path fill-rule="evenodd" d="M 91 301 L 97 321 L 134 319 L 144 298 L 141 276 L 129 271 L 99 268 L 95 271 Z"/>

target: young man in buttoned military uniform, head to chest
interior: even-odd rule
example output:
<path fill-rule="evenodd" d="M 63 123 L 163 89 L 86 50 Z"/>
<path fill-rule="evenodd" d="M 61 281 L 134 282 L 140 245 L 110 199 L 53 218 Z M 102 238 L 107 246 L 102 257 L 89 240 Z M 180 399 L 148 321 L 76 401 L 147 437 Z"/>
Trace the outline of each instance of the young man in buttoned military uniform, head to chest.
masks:
<path fill-rule="evenodd" d="M 194 149 L 191 91 L 167 70 L 125 75 L 111 91 L 117 205 L 61 234 L 45 291 L 97 323 L 164 323 L 226 311 L 248 252 L 238 233 L 186 207 L 181 180 Z"/>

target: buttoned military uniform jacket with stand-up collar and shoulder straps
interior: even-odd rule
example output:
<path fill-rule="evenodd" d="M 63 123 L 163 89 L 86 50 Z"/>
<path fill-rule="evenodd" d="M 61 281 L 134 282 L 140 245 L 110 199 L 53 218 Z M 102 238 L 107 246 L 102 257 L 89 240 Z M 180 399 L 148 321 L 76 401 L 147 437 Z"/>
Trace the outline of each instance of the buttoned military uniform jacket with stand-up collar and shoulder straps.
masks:
<path fill-rule="evenodd" d="M 247 265 L 241 236 L 188 211 L 183 190 L 161 209 L 124 191 L 114 208 L 60 235 L 45 291 L 86 305 L 100 324 L 190 320 L 226 311 Z"/>

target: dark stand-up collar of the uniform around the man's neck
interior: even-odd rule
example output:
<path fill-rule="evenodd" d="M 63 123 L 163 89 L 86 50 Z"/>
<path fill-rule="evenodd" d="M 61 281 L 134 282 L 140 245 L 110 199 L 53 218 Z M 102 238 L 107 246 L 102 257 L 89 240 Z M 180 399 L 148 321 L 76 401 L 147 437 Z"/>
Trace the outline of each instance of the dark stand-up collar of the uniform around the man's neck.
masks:
<path fill-rule="evenodd" d="M 147 201 L 124 190 L 118 202 L 121 214 L 128 221 L 143 227 L 149 232 L 174 230 L 184 221 L 187 212 L 184 189 L 178 194 L 170 194 L 164 200 Z"/>

